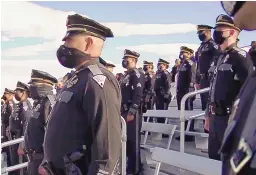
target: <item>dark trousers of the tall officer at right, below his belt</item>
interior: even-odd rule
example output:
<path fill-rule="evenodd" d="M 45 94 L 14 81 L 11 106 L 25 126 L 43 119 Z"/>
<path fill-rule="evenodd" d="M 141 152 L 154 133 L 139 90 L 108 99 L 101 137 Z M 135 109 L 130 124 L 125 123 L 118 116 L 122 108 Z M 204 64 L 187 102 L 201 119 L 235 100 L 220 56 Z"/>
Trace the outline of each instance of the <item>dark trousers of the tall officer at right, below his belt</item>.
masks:
<path fill-rule="evenodd" d="M 228 124 L 229 116 L 210 116 L 208 152 L 209 158 L 221 160 L 219 150 Z"/>

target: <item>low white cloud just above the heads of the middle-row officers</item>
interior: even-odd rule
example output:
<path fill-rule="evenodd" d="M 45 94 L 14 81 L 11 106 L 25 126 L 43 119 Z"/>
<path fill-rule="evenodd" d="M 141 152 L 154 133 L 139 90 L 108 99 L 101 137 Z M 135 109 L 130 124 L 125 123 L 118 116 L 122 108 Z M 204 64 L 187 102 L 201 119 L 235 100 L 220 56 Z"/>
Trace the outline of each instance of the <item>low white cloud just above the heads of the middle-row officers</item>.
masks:
<path fill-rule="evenodd" d="M 194 51 L 199 47 L 198 44 L 189 43 L 171 43 L 171 44 L 144 44 L 138 46 L 121 46 L 117 47 L 118 50 L 131 49 L 139 53 L 154 53 L 160 55 L 163 59 L 174 63 L 175 59 L 178 58 L 180 47 L 187 46 Z M 156 60 L 155 60 L 156 61 Z"/>

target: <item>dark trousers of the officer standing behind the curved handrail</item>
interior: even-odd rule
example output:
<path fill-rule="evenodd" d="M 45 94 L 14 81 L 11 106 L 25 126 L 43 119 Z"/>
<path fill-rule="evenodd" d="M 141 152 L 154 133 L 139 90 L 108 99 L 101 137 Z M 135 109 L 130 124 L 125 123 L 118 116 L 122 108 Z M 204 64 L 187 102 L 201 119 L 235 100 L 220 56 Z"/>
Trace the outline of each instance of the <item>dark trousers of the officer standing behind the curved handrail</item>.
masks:
<path fill-rule="evenodd" d="M 181 106 L 181 99 L 184 97 L 185 94 L 189 93 L 189 89 L 185 90 L 178 90 L 177 89 L 177 94 L 176 94 L 176 99 L 177 99 L 177 106 L 178 110 L 180 110 Z M 192 98 L 188 98 L 185 102 L 185 110 L 192 111 L 193 110 L 193 100 Z M 185 121 L 185 128 L 187 128 L 188 121 Z M 194 120 L 191 121 L 189 131 L 194 130 Z"/>

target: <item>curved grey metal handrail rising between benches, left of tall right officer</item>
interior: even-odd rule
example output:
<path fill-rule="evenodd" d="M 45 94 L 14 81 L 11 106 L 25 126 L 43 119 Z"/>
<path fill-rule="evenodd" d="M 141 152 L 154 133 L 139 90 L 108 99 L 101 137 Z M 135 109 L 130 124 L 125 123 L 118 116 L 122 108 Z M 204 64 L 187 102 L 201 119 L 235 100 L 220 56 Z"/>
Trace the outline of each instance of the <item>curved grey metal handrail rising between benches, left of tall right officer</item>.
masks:
<path fill-rule="evenodd" d="M 181 99 L 180 104 L 180 152 L 184 153 L 184 147 L 185 147 L 185 102 L 189 97 L 195 96 L 197 94 L 202 94 L 205 92 L 209 92 L 210 88 L 204 88 L 200 90 L 196 90 L 193 92 L 189 92 Z"/>

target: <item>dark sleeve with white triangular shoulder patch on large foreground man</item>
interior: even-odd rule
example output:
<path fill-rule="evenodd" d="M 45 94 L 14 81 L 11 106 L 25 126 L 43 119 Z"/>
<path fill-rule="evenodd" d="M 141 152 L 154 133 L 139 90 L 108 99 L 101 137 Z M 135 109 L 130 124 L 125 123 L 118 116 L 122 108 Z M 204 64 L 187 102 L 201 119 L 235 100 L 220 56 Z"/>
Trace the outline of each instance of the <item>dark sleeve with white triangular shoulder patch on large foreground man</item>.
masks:
<path fill-rule="evenodd" d="M 115 85 L 109 77 L 96 75 L 89 77 L 85 86 L 85 135 L 91 154 L 88 175 L 112 174 L 121 155 L 120 88 L 114 76 L 112 82 Z"/>

